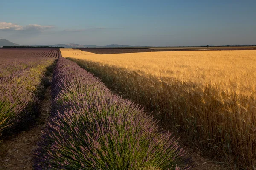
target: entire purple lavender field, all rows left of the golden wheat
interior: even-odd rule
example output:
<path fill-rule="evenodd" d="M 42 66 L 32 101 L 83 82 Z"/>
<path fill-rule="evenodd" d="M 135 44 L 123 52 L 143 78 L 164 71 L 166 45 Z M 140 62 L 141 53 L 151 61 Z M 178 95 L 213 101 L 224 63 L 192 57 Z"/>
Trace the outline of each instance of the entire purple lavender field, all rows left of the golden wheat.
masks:
<path fill-rule="evenodd" d="M 6 136 L 21 138 L 13 140 L 6 151 L 0 147 L 0 169 L 26 168 L 29 162 L 37 170 L 190 169 L 186 151 L 174 134 L 160 131 L 154 117 L 140 105 L 113 94 L 99 78 L 61 57 L 58 50 L 1 49 L 0 59 L 0 139 L 7 146 Z M 53 65 L 53 74 L 48 74 Z M 46 108 L 50 114 L 41 128 L 37 126 L 40 94 L 44 77 L 50 75 L 52 99 Z M 41 128 L 41 138 L 36 149 L 27 149 L 31 153 L 26 155 L 34 156 L 23 161 L 25 153 L 12 156 L 19 151 L 12 143 L 28 145 L 32 139 L 23 134 L 33 133 L 27 129 L 32 124 Z"/>

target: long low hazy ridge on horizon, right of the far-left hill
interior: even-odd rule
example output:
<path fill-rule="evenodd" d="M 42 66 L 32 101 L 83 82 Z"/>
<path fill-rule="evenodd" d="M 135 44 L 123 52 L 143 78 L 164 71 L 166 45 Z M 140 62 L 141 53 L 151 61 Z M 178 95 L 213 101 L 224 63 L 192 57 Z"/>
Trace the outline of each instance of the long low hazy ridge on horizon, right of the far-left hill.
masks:
<path fill-rule="evenodd" d="M 113 47 L 145 47 L 145 46 L 131 46 L 131 45 L 118 45 L 110 44 L 105 46 L 98 45 L 81 45 L 81 44 L 55 44 L 55 45 L 29 45 L 29 46 L 49 46 L 49 47 L 65 47 L 65 48 L 113 48 Z"/>

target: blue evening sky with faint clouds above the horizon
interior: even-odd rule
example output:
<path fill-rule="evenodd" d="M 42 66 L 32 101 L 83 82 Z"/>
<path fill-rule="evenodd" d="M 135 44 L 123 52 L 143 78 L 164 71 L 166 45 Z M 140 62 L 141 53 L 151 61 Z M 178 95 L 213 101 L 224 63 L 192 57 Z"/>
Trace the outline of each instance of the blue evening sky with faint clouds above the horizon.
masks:
<path fill-rule="evenodd" d="M 0 38 L 30 44 L 256 44 L 256 0 L 1 0 Z"/>

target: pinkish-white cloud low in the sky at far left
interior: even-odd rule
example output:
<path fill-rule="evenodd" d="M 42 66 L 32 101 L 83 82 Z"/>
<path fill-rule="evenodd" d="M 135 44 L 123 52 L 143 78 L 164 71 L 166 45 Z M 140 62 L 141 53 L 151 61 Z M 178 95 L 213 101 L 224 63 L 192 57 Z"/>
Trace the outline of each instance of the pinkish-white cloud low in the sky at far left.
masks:
<path fill-rule="evenodd" d="M 41 26 L 38 24 L 29 24 L 26 26 L 20 26 L 18 24 L 0 22 L 0 30 L 12 30 L 12 31 L 43 31 L 46 29 L 54 28 L 53 26 Z"/>

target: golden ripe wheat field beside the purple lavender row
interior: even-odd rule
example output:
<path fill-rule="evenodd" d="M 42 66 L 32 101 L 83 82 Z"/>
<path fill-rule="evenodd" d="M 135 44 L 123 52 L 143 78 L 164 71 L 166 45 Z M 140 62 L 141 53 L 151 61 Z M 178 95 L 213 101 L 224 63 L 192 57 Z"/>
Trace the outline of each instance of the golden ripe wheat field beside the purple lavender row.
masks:
<path fill-rule="evenodd" d="M 255 50 L 61 54 L 232 166 L 256 167 Z"/>

